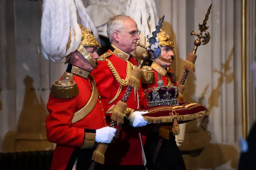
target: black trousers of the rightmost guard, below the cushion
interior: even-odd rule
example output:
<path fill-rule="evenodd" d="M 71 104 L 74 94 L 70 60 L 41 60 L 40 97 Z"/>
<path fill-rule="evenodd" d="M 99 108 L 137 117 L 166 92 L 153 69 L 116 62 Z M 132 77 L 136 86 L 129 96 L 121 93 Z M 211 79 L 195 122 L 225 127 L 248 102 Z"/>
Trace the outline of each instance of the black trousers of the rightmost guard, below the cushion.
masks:
<path fill-rule="evenodd" d="M 186 170 L 182 153 L 176 144 L 175 136 L 170 133 L 170 139 L 164 139 L 155 165 L 153 156 L 160 136 L 158 132 L 150 132 L 146 138 L 144 152 L 146 155 L 148 170 Z"/>

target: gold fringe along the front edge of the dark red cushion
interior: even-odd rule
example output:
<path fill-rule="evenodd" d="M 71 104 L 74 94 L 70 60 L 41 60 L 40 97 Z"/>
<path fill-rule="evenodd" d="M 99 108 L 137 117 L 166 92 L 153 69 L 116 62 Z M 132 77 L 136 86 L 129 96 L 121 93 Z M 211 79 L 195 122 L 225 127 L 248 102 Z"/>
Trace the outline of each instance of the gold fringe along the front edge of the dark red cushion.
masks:
<path fill-rule="evenodd" d="M 196 120 L 200 117 L 205 117 L 209 116 L 210 112 L 208 110 L 206 111 L 200 111 L 198 113 L 194 113 L 192 115 L 179 115 L 179 116 L 162 116 L 162 117 L 148 117 L 148 116 L 143 116 L 143 119 L 147 121 L 148 123 L 153 123 L 153 124 L 159 124 L 159 123 L 172 123 L 174 122 L 174 119 L 177 119 L 177 121 L 193 121 Z"/>

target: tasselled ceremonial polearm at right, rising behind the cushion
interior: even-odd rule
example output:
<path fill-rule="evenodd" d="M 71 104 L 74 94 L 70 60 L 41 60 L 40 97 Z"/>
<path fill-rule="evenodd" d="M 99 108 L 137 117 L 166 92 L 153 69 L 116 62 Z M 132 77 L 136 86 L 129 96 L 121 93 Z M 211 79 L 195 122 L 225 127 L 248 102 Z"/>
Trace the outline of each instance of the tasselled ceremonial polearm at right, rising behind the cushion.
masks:
<path fill-rule="evenodd" d="M 212 4 L 210 5 L 210 7 L 208 8 L 207 10 L 207 13 L 205 15 L 205 18 L 204 18 L 204 21 L 203 21 L 203 24 L 200 24 L 199 23 L 199 29 L 200 30 L 200 34 L 196 34 L 193 30 L 190 32 L 190 35 L 194 35 L 194 36 L 197 36 L 197 39 L 194 41 L 194 48 L 192 50 L 191 53 L 188 54 L 188 57 L 184 63 L 184 73 L 182 75 L 182 79 L 180 81 L 180 85 L 178 86 L 178 89 L 179 89 L 179 96 L 178 96 L 178 101 L 179 103 L 182 103 L 183 102 L 183 92 L 184 92 L 184 84 L 185 84 L 185 81 L 186 81 L 186 78 L 188 76 L 188 72 L 189 71 L 195 71 L 195 62 L 196 62 L 196 50 L 198 48 L 198 46 L 201 45 L 201 39 L 202 39 L 202 45 L 206 45 L 209 41 L 210 41 L 210 33 L 207 32 L 204 34 L 204 36 L 202 36 L 203 32 L 206 32 L 206 30 L 208 30 L 208 26 L 206 26 L 207 24 L 207 20 L 209 18 L 209 15 L 210 15 L 210 10 L 212 8 Z M 208 125 L 208 116 L 204 117 L 203 121 L 202 121 L 202 129 L 205 130 L 207 128 L 207 125 Z M 158 144 L 156 146 L 156 150 L 155 150 L 155 153 L 154 153 L 154 156 L 153 156 L 153 164 L 156 162 L 156 158 L 159 154 L 159 151 L 161 149 L 161 146 L 162 146 L 162 142 L 163 142 L 163 138 L 160 138 L 159 141 L 158 141 Z"/>

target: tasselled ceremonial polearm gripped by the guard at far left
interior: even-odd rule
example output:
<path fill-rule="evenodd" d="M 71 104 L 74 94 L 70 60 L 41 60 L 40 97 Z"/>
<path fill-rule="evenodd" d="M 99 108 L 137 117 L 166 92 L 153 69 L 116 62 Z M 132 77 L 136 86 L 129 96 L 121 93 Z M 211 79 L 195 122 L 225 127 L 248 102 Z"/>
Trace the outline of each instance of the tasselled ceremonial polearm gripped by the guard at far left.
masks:
<path fill-rule="evenodd" d="M 111 116 L 111 123 L 110 127 L 115 127 L 116 123 L 118 124 L 118 130 L 116 132 L 116 137 L 118 137 L 119 131 L 121 129 L 122 123 L 124 123 L 124 112 L 126 110 L 127 104 L 126 101 L 128 100 L 130 93 L 132 91 L 132 88 L 138 89 L 140 86 L 140 77 L 142 75 L 142 67 L 144 65 L 144 62 L 149 61 L 150 59 L 156 59 L 161 54 L 161 48 L 158 45 L 158 33 L 160 32 L 160 28 L 162 27 L 162 22 L 164 21 L 164 16 L 159 20 L 158 26 L 156 26 L 156 31 L 152 32 L 152 36 L 147 36 L 147 41 L 149 42 L 149 46 L 145 47 L 144 45 L 137 43 L 136 45 L 140 45 L 141 47 L 144 47 L 146 51 L 142 54 L 142 61 L 140 61 L 140 64 L 138 67 L 135 67 L 132 71 L 132 74 L 130 75 L 128 79 L 128 87 L 124 93 L 124 96 L 121 101 L 118 101 L 116 103 L 116 107 L 112 111 Z M 104 143 L 98 143 L 96 150 L 93 153 L 92 156 L 92 164 L 90 166 L 89 170 L 94 170 L 97 163 L 104 164 L 104 154 L 106 152 L 106 149 L 108 148 L 107 144 Z"/>

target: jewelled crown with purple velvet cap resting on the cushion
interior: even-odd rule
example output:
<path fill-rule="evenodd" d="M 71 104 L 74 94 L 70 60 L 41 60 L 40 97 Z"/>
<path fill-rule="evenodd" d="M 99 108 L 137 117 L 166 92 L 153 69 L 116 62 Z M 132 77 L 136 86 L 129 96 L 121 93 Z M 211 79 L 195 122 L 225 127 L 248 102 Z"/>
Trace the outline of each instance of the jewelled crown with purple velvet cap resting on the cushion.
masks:
<path fill-rule="evenodd" d="M 148 107 L 178 105 L 178 87 L 176 86 L 161 86 L 146 89 L 145 97 L 148 102 Z"/>

